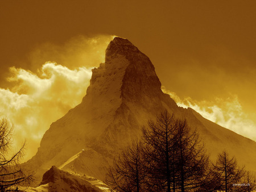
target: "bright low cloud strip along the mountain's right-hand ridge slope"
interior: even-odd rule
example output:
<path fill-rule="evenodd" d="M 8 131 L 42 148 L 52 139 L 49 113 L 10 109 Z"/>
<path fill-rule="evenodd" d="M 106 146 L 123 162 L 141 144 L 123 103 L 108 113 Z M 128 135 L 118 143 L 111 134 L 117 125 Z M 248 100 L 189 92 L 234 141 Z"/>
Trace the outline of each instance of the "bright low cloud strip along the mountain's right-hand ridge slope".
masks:
<path fill-rule="evenodd" d="M 162 90 L 169 94 L 178 106 L 193 108 L 204 118 L 256 141 L 256 124 L 243 112 L 237 95 L 226 99 L 215 98 L 214 101 L 195 101 L 190 97 L 180 99 L 176 93 L 166 90 L 164 86 Z"/>

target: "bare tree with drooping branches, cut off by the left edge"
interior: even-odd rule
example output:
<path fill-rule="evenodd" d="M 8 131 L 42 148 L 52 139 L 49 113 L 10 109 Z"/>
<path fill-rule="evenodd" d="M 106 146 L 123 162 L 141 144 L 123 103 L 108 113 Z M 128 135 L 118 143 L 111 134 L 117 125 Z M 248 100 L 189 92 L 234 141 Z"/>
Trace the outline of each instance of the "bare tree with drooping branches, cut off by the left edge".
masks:
<path fill-rule="evenodd" d="M 28 173 L 19 164 L 24 155 L 24 145 L 14 155 L 9 155 L 13 136 L 13 126 L 4 118 L 0 120 L 0 191 L 11 191 L 18 186 L 26 186 L 33 180 L 33 173 Z"/>

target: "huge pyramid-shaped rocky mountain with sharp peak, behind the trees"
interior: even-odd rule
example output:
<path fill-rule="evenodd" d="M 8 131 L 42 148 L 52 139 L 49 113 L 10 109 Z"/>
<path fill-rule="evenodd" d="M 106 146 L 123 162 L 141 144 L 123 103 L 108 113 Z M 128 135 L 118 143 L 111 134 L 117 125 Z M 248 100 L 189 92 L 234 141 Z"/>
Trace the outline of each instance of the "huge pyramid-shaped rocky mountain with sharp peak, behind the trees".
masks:
<path fill-rule="evenodd" d="M 105 63 L 92 72 L 81 104 L 51 124 L 38 153 L 27 162 L 39 173 L 64 164 L 85 149 L 84 155 L 64 168 L 72 167 L 103 180 L 113 157 L 141 135 L 141 127 L 148 119 L 154 120 L 165 109 L 197 128 L 213 159 L 226 149 L 237 157 L 238 164 L 256 170 L 256 143 L 210 122 L 191 108 L 178 107 L 160 89 L 150 59 L 130 41 L 115 37 L 106 49 Z M 86 162 L 82 169 L 81 162 Z"/>

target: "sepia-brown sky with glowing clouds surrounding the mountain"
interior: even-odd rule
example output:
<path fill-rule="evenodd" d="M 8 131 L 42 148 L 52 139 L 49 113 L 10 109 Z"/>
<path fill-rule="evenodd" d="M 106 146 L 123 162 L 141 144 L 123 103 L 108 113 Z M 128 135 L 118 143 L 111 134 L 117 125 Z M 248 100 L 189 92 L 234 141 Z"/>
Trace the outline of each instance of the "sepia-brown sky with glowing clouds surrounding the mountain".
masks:
<path fill-rule="evenodd" d="M 116 35 L 151 59 L 180 106 L 256 140 L 255 10 L 254 0 L 2 0 L 0 115 L 34 155 Z"/>

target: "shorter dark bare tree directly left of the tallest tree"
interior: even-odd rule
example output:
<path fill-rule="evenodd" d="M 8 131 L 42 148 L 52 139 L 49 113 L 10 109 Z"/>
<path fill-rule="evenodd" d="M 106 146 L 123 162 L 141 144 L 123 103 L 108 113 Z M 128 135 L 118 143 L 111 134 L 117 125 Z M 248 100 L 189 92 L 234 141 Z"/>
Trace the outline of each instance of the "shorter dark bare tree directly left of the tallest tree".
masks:
<path fill-rule="evenodd" d="M 144 191 L 146 170 L 143 163 L 142 143 L 133 141 L 114 160 L 105 183 L 115 191 Z"/>

